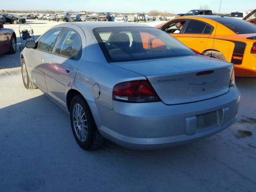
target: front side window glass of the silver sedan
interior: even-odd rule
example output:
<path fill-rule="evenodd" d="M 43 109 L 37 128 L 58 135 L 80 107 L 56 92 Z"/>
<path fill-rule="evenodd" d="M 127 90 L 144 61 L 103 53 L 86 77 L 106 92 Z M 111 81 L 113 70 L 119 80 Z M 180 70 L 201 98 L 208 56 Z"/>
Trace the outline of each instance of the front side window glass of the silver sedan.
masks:
<path fill-rule="evenodd" d="M 51 52 L 61 30 L 62 28 L 55 28 L 53 30 L 48 31 L 46 34 L 44 34 L 37 41 L 37 49 Z"/>

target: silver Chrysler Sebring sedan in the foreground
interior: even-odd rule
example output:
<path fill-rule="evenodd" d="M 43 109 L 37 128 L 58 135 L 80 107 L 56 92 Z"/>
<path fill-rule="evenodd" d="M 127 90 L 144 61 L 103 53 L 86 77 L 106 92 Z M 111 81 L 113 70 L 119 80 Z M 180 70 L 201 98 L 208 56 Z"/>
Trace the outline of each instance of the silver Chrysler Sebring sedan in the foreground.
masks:
<path fill-rule="evenodd" d="M 25 88 L 39 88 L 70 114 L 85 150 L 104 138 L 135 149 L 184 144 L 238 117 L 233 64 L 144 24 L 59 24 L 26 42 L 21 64 Z"/>

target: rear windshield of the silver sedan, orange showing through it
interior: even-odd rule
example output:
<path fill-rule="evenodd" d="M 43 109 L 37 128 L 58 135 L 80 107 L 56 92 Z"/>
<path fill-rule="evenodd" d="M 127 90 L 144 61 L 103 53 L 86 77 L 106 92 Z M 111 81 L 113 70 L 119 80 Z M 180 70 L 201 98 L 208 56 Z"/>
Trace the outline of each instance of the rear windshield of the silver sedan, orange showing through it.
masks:
<path fill-rule="evenodd" d="M 94 35 L 108 62 L 194 55 L 166 32 L 151 27 L 96 28 Z"/>

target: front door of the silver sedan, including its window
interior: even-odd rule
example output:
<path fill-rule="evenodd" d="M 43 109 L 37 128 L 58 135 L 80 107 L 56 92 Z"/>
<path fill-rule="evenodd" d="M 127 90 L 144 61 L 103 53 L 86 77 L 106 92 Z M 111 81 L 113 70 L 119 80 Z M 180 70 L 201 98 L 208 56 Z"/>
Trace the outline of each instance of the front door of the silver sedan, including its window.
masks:
<path fill-rule="evenodd" d="M 48 31 L 37 41 L 36 49 L 30 49 L 28 52 L 27 65 L 29 76 L 32 82 L 44 93 L 47 93 L 44 78 L 45 62 L 62 29 L 63 28 L 55 28 Z"/>

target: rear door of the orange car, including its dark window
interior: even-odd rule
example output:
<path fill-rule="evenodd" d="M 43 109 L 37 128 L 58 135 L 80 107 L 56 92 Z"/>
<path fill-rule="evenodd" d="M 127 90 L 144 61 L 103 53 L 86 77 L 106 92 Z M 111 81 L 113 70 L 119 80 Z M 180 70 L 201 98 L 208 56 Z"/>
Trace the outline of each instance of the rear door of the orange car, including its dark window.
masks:
<path fill-rule="evenodd" d="M 208 38 L 214 28 L 199 20 L 187 22 L 188 24 L 182 29 L 177 39 L 196 53 L 201 54 L 204 52 Z"/>

